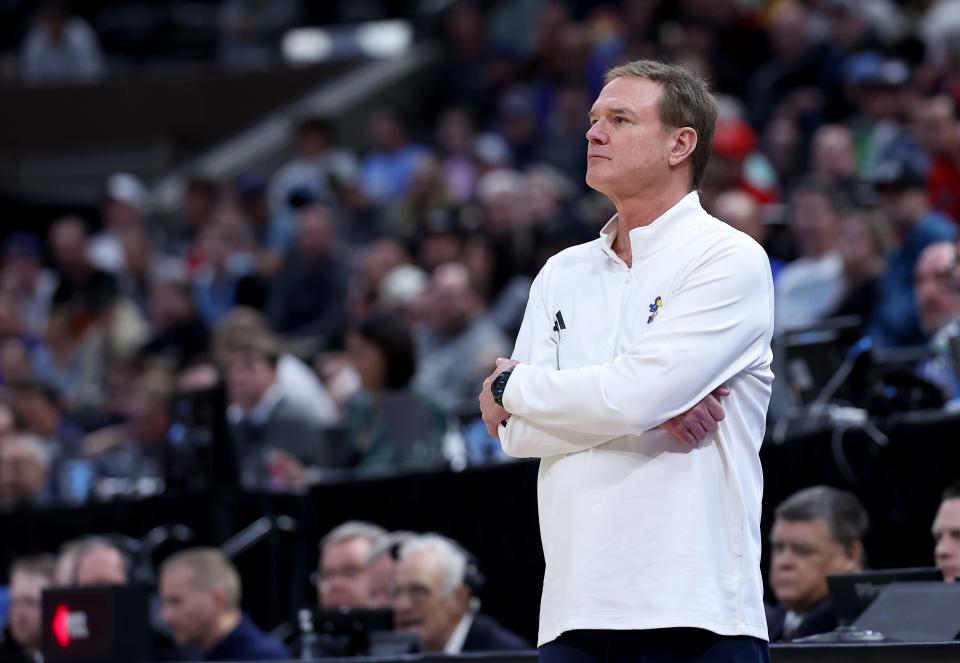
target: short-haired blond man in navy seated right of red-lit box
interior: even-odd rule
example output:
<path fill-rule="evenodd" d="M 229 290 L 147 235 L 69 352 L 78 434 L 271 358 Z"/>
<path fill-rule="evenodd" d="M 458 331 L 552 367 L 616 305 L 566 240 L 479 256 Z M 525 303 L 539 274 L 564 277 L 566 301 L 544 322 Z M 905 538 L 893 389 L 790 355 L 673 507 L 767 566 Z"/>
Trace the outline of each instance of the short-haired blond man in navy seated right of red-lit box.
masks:
<path fill-rule="evenodd" d="M 192 548 L 160 567 L 163 621 L 205 661 L 281 661 L 286 648 L 240 610 L 240 576 L 215 548 Z"/>

